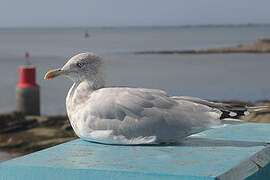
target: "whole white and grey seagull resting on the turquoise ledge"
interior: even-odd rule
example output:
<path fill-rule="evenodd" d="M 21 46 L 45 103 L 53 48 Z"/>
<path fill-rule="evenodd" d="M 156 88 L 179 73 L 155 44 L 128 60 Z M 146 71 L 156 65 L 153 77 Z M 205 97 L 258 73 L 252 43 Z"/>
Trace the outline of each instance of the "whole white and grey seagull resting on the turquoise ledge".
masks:
<path fill-rule="evenodd" d="M 63 75 L 74 83 L 66 109 L 76 135 L 104 144 L 177 143 L 224 124 L 224 117 L 247 115 L 264 106 L 247 107 L 195 97 L 170 96 L 158 89 L 106 87 L 104 62 L 94 53 L 80 53 L 44 79 Z"/>

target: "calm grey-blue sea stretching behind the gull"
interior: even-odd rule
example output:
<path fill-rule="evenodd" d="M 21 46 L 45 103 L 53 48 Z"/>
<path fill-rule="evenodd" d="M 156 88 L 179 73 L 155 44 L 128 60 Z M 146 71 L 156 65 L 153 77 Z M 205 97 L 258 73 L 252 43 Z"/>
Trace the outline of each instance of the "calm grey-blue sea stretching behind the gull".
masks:
<path fill-rule="evenodd" d="M 0 112 L 15 108 L 15 85 L 30 52 L 43 114 L 64 114 L 71 82 L 43 80 L 79 52 L 106 62 L 107 84 L 159 88 L 214 100 L 270 99 L 270 54 L 133 55 L 144 50 L 206 49 L 253 43 L 270 27 L 0 29 Z"/>

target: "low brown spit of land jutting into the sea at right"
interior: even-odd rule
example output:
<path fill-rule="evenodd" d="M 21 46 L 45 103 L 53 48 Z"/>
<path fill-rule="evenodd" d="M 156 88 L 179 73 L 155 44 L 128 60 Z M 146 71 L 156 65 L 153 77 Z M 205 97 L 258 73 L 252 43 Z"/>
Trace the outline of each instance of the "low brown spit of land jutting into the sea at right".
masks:
<path fill-rule="evenodd" d="M 253 44 L 239 44 L 234 47 L 202 49 L 202 50 L 173 50 L 173 51 L 141 51 L 135 54 L 224 54 L 224 53 L 270 53 L 270 38 L 258 39 Z"/>

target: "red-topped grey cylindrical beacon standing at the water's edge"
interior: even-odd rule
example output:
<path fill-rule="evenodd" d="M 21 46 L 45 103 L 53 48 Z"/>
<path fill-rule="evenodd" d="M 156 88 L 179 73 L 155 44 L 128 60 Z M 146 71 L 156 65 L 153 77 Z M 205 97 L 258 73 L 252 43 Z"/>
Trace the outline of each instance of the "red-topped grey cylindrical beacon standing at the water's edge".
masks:
<path fill-rule="evenodd" d="M 26 59 L 29 57 L 29 53 L 25 54 Z M 40 115 L 40 92 L 36 84 L 36 68 L 29 64 L 19 68 L 20 82 L 16 86 L 16 108 L 25 115 Z"/>

